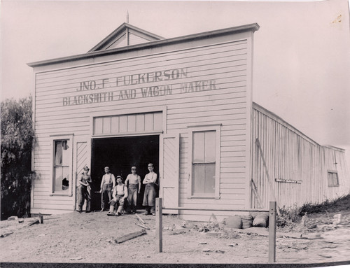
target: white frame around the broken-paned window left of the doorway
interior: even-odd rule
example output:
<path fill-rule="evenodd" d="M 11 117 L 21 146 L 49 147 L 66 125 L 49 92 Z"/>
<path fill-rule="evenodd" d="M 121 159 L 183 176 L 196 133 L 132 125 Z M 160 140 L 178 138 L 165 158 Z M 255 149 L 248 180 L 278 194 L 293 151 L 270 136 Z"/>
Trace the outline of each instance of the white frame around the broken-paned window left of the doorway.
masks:
<path fill-rule="evenodd" d="M 56 141 L 68 141 L 70 146 L 69 152 L 69 189 L 67 192 L 55 192 L 55 143 Z M 73 196 L 73 134 L 50 136 L 50 195 L 55 196 Z"/>

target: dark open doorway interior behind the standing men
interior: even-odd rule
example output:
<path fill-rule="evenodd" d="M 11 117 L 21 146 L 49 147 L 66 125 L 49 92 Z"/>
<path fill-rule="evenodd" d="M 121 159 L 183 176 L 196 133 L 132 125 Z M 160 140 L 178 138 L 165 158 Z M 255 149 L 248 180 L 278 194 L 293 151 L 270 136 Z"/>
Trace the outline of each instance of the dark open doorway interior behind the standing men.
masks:
<path fill-rule="evenodd" d="M 137 174 L 141 181 L 148 174 L 147 165 L 155 165 L 155 173 L 158 174 L 159 167 L 159 136 L 132 136 L 108 139 L 92 140 L 92 210 L 101 208 L 101 195 L 99 191 L 104 167 L 109 167 L 114 176 L 122 176 L 123 182 L 131 173 L 132 166 L 137 167 Z M 141 192 L 137 199 L 138 209 L 142 209 L 144 198 L 144 185 L 141 185 Z"/>

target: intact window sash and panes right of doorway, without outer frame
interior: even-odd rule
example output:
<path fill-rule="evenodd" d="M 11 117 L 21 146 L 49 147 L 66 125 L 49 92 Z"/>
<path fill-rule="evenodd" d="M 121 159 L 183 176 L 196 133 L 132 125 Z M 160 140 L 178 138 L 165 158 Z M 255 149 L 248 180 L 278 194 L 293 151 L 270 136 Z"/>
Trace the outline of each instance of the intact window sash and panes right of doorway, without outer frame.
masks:
<path fill-rule="evenodd" d="M 192 195 L 214 195 L 216 187 L 216 131 L 193 132 Z"/>

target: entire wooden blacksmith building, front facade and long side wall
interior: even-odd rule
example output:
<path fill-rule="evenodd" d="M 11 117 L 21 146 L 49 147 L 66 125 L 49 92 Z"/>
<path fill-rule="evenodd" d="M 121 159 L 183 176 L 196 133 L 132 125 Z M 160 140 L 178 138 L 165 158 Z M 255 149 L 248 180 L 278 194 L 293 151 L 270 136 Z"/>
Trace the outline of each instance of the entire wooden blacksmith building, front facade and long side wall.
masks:
<path fill-rule="evenodd" d="M 204 207 L 266 206 L 272 192 L 280 207 L 349 193 L 344 150 L 319 146 L 253 104 L 258 29 L 248 24 L 166 39 L 125 23 L 85 54 L 29 64 L 36 134 L 31 213 L 76 209 L 85 165 L 93 209 L 105 166 L 123 178 L 137 166 L 143 178 L 152 162 L 164 206 L 198 209 L 165 213 L 187 220 L 207 220 Z"/>

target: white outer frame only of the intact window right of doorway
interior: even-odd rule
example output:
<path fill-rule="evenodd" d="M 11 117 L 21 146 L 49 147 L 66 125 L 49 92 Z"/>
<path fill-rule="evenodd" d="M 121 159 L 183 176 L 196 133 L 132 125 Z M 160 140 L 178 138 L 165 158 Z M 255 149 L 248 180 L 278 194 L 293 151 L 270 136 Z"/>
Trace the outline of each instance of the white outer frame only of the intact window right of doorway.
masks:
<path fill-rule="evenodd" d="M 193 133 L 212 132 L 216 135 L 215 148 L 215 192 L 214 194 L 194 194 L 193 193 Z M 188 126 L 188 198 L 220 199 L 220 167 L 221 167 L 221 124 L 216 125 L 193 125 Z"/>

